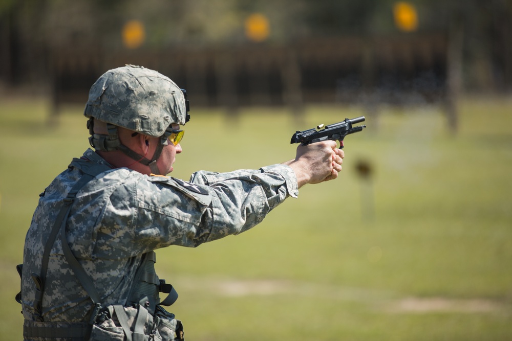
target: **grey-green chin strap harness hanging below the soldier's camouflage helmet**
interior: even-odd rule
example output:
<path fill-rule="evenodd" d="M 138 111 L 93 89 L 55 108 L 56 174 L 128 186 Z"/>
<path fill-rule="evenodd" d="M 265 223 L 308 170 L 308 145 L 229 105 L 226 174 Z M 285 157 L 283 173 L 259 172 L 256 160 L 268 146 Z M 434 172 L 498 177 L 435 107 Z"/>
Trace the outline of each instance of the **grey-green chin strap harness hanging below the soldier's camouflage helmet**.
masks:
<path fill-rule="evenodd" d="M 136 162 L 143 164 L 144 166 L 150 167 L 150 170 L 153 174 L 160 174 L 160 170 L 158 169 L 157 166 L 157 160 L 160 157 L 160 154 L 162 153 L 164 147 L 162 144 L 157 144 L 157 149 L 153 154 L 153 160 L 148 160 L 144 155 L 140 155 L 134 152 L 132 149 L 121 144 L 121 140 L 119 140 L 119 135 L 117 133 L 117 127 L 115 125 L 110 123 L 106 124 L 106 128 L 109 132 L 108 135 L 94 133 L 93 125 L 93 119 L 91 118 L 87 122 L 87 127 L 89 128 L 89 132 L 91 133 L 91 137 L 89 138 L 89 143 L 91 147 L 101 151 L 119 150 L 124 155 L 132 158 Z"/>

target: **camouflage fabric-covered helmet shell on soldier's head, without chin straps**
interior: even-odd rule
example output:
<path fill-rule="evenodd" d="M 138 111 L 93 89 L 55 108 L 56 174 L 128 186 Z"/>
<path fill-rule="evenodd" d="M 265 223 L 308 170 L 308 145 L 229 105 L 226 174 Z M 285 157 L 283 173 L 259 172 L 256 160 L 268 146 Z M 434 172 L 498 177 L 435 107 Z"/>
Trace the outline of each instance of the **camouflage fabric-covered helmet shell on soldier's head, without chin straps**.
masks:
<path fill-rule="evenodd" d="M 152 137 L 189 120 L 186 92 L 168 77 L 142 66 L 105 72 L 89 91 L 84 116 Z"/>

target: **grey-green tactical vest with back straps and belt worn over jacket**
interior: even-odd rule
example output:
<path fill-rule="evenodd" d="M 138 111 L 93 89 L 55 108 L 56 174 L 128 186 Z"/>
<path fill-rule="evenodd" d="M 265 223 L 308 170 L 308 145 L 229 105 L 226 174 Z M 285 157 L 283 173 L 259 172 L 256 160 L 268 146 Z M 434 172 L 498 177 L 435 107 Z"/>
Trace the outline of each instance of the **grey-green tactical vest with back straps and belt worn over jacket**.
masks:
<path fill-rule="evenodd" d="M 76 341 L 79 340 L 88 340 L 92 325 L 95 324 L 101 314 L 105 313 L 105 306 L 102 305 L 101 297 L 96 290 L 93 281 L 87 275 L 86 271 L 80 265 L 78 260 L 73 255 L 69 244 L 66 240 L 66 220 L 71 211 L 71 206 L 73 204 L 73 200 L 76 197 L 78 191 L 83 188 L 90 180 L 92 180 L 96 175 L 110 170 L 111 168 L 105 165 L 100 165 L 97 163 L 87 162 L 84 160 L 80 160 L 78 158 L 74 158 L 69 168 L 78 168 L 84 174 L 77 181 L 75 186 L 70 190 L 67 197 L 63 199 L 62 207 L 55 219 L 53 228 L 51 230 L 48 241 L 45 245 L 45 250 L 42 256 L 41 262 L 41 271 L 39 274 L 32 273 L 31 277 L 36 286 L 36 294 L 34 298 L 34 311 L 36 316 L 36 323 L 30 326 L 24 325 L 23 335 L 24 338 L 45 338 L 48 340 L 56 339 L 56 338 L 70 338 Z M 94 304 L 94 308 L 91 312 L 89 324 L 66 324 L 66 327 L 60 327 L 59 324 L 55 323 L 45 323 L 42 316 L 42 297 L 44 295 L 45 290 L 45 282 L 46 282 L 46 272 L 48 268 L 48 261 L 50 256 L 50 251 L 55 243 L 57 238 L 57 234 L 60 234 L 60 239 L 62 243 L 62 249 L 64 256 L 66 257 L 67 262 L 70 264 L 71 268 L 75 276 L 80 281 L 80 284 L 89 294 L 90 299 Z M 154 251 L 145 253 L 142 256 L 141 264 L 136 271 L 135 278 L 130 289 L 130 293 L 128 295 L 128 299 L 126 301 L 125 306 L 141 306 L 144 311 L 147 313 L 154 315 L 156 310 L 158 310 L 158 305 L 170 306 L 178 299 L 178 293 L 174 289 L 174 287 L 170 284 L 166 284 L 165 280 L 161 280 L 158 278 L 155 272 L 155 262 L 156 255 Z M 23 264 L 16 266 L 20 277 L 22 276 L 22 268 Z M 159 292 L 167 293 L 167 297 L 160 301 Z M 18 303 L 22 303 L 21 301 L 22 295 L 21 291 L 16 295 L 16 301 Z M 126 339 L 132 339 L 129 335 L 131 332 L 141 332 L 141 328 L 144 325 L 144 321 L 146 316 L 144 314 L 137 314 L 137 321 L 135 322 L 135 330 L 131 330 L 129 326 L 127 326 L 127 317 L 124 311 L 120 308 L 120 306 L 114 306 L 115 312 L 117 314 L 117 319 L 121 323 L 123 330 L 125 332 Z M 161 309 L 163 310 L 163 309 Z M 140 320 L 140 321 L 139 321 Z M 138 330 L 137 330 L 138 329 Z M 183 339 L 183 330 L 181 322 L 179 322 L 177 326 L 176 333 L 178 335 L 177 339 Z M 181 337 L 180 337 L 181 335 Z"/>

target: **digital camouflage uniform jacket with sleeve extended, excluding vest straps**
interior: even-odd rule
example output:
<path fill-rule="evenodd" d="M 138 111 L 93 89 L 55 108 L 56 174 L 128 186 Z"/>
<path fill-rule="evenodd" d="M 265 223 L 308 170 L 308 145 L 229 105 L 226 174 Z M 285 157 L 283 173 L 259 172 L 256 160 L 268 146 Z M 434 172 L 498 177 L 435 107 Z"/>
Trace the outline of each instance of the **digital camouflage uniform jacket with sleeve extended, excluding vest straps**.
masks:
<path fill-rule="evenodd" d="M 88 149 L 80 162 L 108 165 Z M 39 199 L 24 250 L 22 304 L 34 321 L 34 283 L 60 202 L 83 175 L 59 174 Z M 93 279 L 104 304 L 124 304 L 142 254 L 160 247 L 195 247 L 247 231 L 288 196 L 298 194 L 291 168 L 273 165 L 228 173 L 199 171 L 190 182 L 127 168 L 105 171 L 77 194 L 67 241 Z M 42 312 L 47 322 L 87 322 L 92 303 L 63 256 L 59 238 L 50 254 Z"/>

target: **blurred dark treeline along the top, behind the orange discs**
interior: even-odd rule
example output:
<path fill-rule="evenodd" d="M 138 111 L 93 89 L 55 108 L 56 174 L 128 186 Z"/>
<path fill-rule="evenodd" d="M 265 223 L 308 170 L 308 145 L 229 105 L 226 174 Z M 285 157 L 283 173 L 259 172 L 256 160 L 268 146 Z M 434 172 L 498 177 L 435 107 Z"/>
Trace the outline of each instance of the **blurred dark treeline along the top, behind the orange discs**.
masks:
<path fill-rule="evenodd" d="M 139 20 L 142 47 L 247 43 L 244 20 L 262 13 L 272 28 L 266 42 L 303 37 L 398 33 L 396 0 L 0 0 L 0 77 L 27 81 L 44 70 L 48 50 L 82 46 L 123 49 L 121 29 Z M 418 32 L 463 27 L 464 72 L 470 87 L 512 87 L 512 0 L 409 0 Z M 35 75 L 35 74 L 34 74 Z M 34 76 L 35 77 L 35 76 Z"/>

